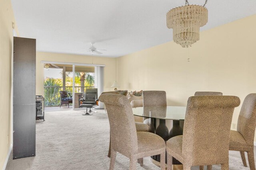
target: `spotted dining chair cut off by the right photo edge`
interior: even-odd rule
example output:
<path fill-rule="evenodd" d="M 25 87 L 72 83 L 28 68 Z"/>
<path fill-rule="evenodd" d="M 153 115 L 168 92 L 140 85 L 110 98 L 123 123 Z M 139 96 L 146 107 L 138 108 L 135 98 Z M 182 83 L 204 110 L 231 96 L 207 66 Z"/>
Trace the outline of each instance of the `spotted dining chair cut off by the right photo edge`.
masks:
<path fill-rule="evenodd" d="M 242 162 L 247 167 L 244 152 L 247 152 L 251 170 L 255 170 L 254 133 L 256 127 L 256 93 L 248 94 L 242 104 L 237 122 L 237 131 L 230 131 L 229 150 L 240 151 Z"/>

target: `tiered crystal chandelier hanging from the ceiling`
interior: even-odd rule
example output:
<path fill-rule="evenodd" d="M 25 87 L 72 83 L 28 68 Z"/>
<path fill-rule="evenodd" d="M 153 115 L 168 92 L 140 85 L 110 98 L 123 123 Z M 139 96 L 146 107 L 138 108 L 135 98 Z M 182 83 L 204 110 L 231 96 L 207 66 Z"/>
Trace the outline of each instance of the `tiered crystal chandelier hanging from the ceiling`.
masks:
<path fill-rule="evenodd" d="M 174 8 L 166 14 L 168 28 L 173 29 L 173 41 L 182 47 L 191 47 L 199 40 L 200 27 L 208 22 L 208 10 L 203 6 L 189 5 Z"/>

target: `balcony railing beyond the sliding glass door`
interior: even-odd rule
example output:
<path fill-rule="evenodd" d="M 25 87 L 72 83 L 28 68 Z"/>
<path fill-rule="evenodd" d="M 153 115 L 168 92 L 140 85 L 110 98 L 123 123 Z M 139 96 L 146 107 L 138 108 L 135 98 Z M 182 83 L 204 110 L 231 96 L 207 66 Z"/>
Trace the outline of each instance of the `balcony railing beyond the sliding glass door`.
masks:
<path fill-rule="evenodd" d="M 94 86 L 84 86 L 84 92 L 87 88 L 94 88 Z M 60 106 L 60 91 L 63 90 L 63 86 L 44 86 L 44 106 L 51 107 L 51 106 Z M 66 92 L 73 92 L 72 86 L 66 86 Z M 75 93 L 82 92 L 81 86 L 75 86 L 74 88 Z"/>

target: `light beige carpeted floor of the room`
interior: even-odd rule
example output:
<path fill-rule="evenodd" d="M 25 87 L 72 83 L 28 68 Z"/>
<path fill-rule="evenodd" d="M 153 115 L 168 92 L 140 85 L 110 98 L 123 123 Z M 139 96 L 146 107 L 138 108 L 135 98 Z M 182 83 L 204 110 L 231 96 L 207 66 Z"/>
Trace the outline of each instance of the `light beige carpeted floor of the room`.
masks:
<path fill-rule="evenodd" d="M 91 116 L 82 116 L 82 110 L 46 112 L 46 121 L 36 122 L 36 156 L 12 160 L 11 154 L 6 170 L 107 170 L 108 117 L 104 110 L 97 111 Z M 239 152 L 230 151 L 229 163 L 230 170 L 250 169 L 242 165 Z M 115 169 L 128 170 L 129 159 L 117 154 Z M 137 170 L 159 169 L 149 157 L 143 167 L 137 164 Z"/>

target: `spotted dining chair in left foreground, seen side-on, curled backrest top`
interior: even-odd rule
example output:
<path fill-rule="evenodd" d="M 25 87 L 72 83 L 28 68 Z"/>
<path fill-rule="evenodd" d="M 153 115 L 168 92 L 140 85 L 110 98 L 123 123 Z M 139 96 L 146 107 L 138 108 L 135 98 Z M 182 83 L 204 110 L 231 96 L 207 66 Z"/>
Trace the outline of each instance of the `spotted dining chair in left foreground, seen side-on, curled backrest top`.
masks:
<path fill-rule="evenodd" d="M 99 97 L 108 111 L 111 135 L 110 170 L 114 169 L 116 152 L 130 158 L 130 170 L 136 169 L 137 159 L 161 155 L 161 169 L 165 169 L 165 142 L 149 132 L 136 132 L 132 107 L 126 96 L 102 94 Z"/>

